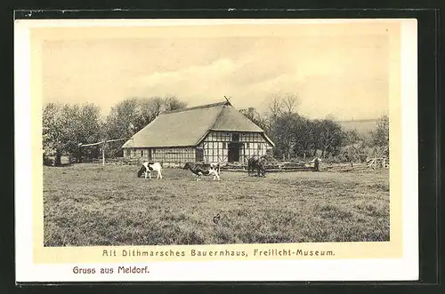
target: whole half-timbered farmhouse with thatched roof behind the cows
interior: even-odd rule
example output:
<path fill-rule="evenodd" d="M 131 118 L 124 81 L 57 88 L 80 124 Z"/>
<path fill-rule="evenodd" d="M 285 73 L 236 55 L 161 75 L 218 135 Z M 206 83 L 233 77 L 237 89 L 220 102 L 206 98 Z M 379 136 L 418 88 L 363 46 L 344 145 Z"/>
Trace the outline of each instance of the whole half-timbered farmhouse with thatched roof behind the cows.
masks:
<path fill-rule="evenodd" d="M 247 163 L 251 156 L 266 155 L 272 147 L 262 128 L 224 101 L 158 115 L 123 149 L 127 160 L 175 165 Z"/>

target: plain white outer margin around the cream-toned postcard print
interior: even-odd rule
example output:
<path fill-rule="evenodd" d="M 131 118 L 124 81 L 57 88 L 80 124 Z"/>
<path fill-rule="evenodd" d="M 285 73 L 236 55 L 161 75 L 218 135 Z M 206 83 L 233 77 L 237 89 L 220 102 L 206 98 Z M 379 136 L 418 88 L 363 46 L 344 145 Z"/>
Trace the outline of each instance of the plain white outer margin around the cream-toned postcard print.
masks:
<path fill-rule="evenodd" d="M 171 25 L 182 20 L 16 20 L 14 32 L 15 123 L 15 234 L 17 282 L 94 281 L 413 281 L 418 279 L 417 219 L 417 20 L 401 20 L 401 125 L 403 257 L 400 259 L 156 262 L 150 274 L 73 274 L 73 266 L 35 265 L 32 260 L 32 207 L 29 164 L 30 129 L 30 28 L 36 27 L 137 27 Z M 227 23 L 297 23 L 363 20 L 192 20 L 196 25 Z M 20 155 L 20 156 L 17 156 Z M 17 180 L 20 179 L 20 180 Z M 20 203 L 20 204 L 19 204 Z M 134 266 L 134 265 L 132 265 Z M 137 265 L 136 265 L 137 266 Z"/>

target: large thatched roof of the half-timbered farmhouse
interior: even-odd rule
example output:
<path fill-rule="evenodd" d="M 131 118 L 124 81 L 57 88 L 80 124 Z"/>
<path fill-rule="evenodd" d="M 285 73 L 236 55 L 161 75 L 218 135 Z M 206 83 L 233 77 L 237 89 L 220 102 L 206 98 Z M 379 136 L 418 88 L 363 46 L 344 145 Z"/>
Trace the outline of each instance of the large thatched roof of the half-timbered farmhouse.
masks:
<path fill-rule="evenodd" d="M 225 101 L 158 115 L 123 147 L 192 147 L 209 131 L 260 132 L 271 142 L 259 126 Z"/>

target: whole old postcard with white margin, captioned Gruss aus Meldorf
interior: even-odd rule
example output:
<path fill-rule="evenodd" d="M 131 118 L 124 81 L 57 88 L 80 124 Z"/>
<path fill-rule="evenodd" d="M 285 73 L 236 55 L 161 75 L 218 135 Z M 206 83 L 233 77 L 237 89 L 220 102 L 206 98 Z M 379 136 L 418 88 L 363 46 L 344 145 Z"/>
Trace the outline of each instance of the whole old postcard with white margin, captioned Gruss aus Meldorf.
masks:
<path fill-rule="evenodd" d="M 417 280 L 417 20 L 14 42 L 17 282 Z"/>

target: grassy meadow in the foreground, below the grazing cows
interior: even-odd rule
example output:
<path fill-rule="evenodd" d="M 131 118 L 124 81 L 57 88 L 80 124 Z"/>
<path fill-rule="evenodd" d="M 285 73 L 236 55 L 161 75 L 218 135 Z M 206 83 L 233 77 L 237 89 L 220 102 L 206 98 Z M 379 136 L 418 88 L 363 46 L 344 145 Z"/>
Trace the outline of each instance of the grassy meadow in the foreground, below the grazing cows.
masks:
<path fill-rule="evenodd" d="M 138 179 L 139 166 L 44 167 L 44 245 L 389 240 L 387 170 Z M 217 225 L 212 218 L 221 214 Z"/>

